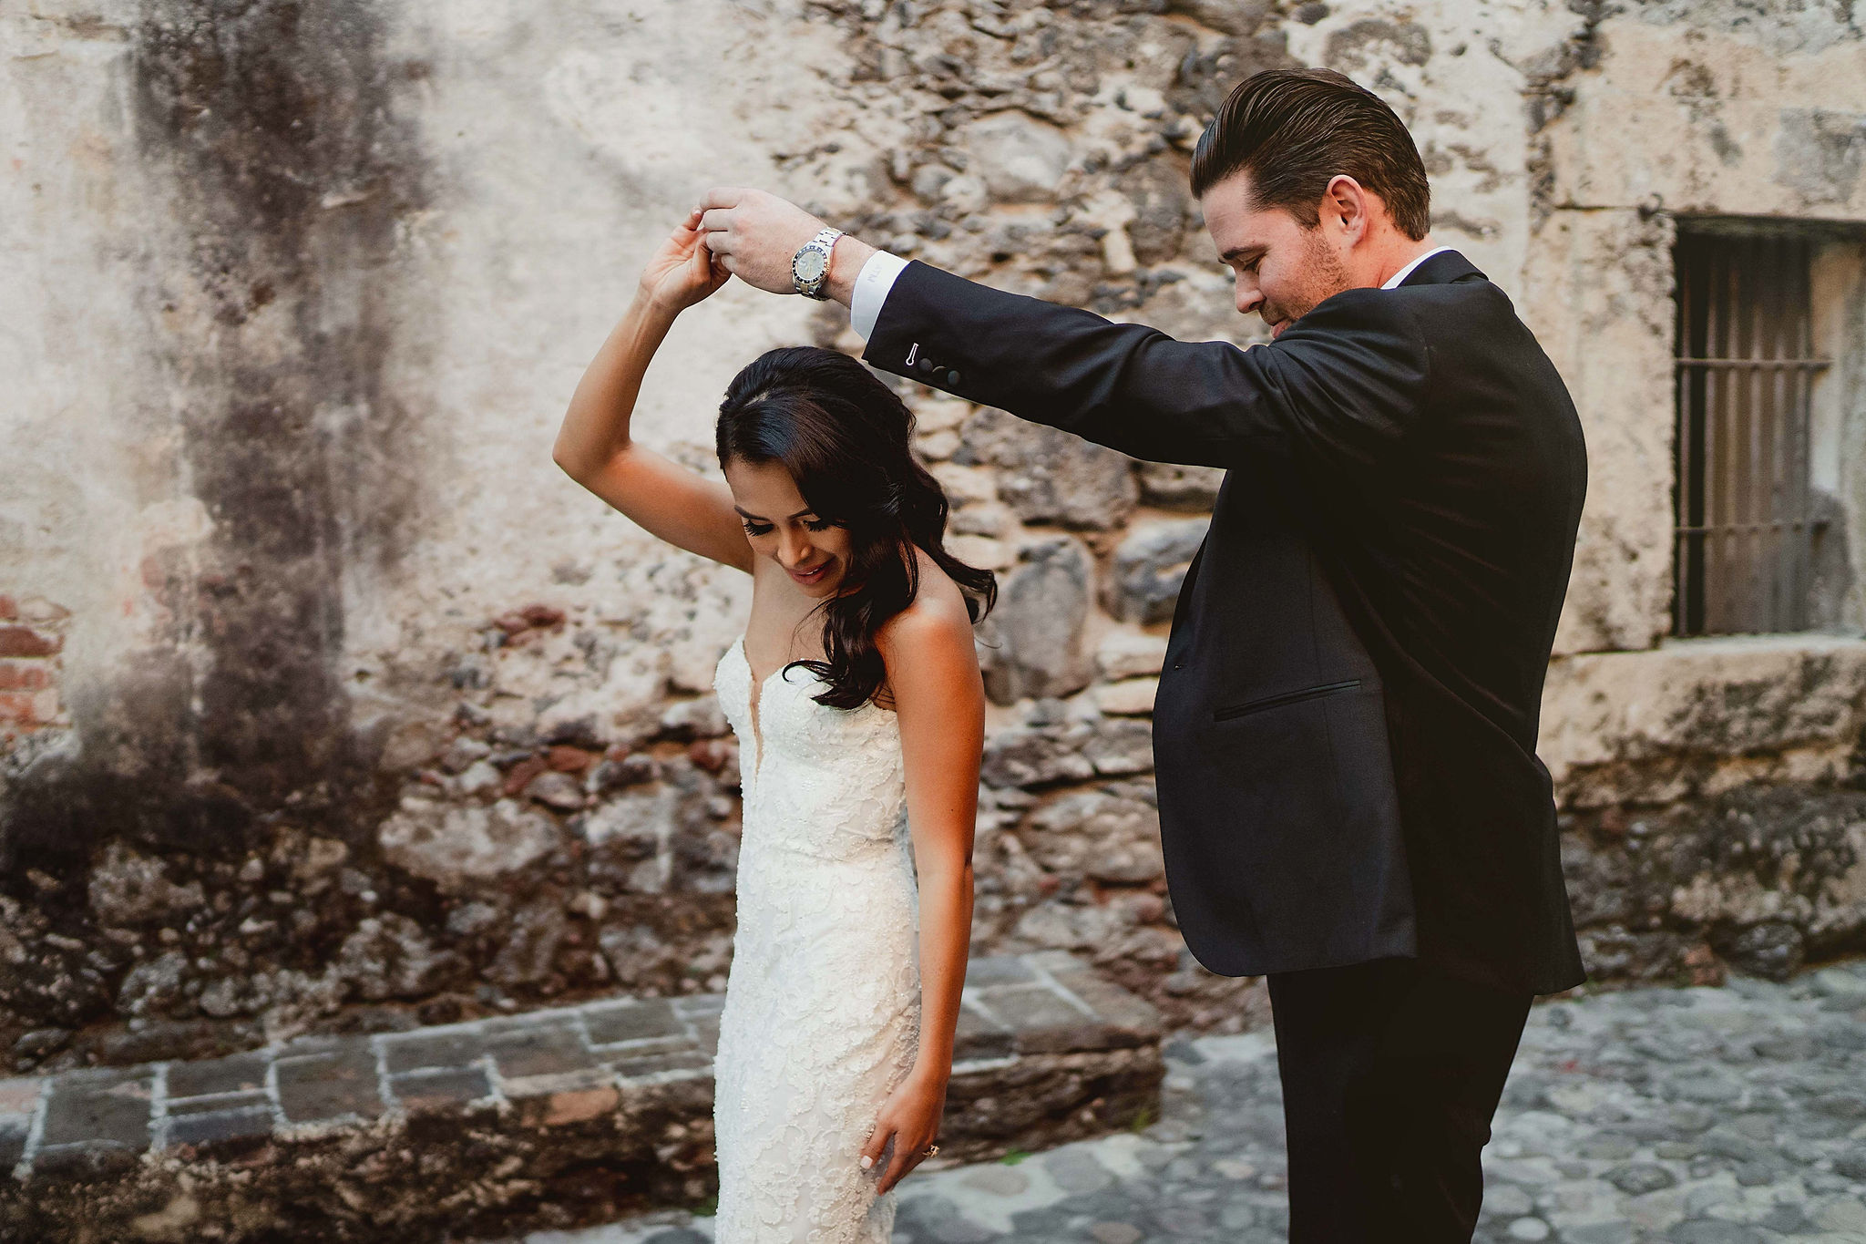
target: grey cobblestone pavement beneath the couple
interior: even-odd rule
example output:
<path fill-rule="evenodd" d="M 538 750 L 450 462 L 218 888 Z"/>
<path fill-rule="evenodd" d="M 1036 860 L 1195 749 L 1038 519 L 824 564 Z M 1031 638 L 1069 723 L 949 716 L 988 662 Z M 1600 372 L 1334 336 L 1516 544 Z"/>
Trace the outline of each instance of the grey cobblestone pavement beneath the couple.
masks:
<path fill-rule="evenodd" d="M 1166 1054 L 1157 1123 L 909 1177 L 896 1244 L 1282 1240 L 1269 1037 Z M 1485 1244 L 1866 1244 L 1866 962 L 1538 1007 L 1485 1168 Z M 655 1214 L 524 1244 L 711 1238 L 709 1218 Z"/>

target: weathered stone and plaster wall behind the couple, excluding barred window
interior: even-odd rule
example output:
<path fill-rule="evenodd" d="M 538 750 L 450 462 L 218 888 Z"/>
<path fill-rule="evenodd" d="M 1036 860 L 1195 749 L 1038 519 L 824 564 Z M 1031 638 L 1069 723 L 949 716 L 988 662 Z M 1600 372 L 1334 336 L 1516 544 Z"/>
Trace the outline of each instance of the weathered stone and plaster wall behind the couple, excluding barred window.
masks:
<path fill-rule="evenodd" d="M 737 748 L 707 688 L 746 584 L 549 459 L 642 257 L 707 185 L 752 183 L 965 276 L 1250 343 L 1187 155 L 1237 78 L 1291 63 L 1400 110 L 1437 241 L 1582 410 L 1543 750 L 1595 970 L 1866 946 L 1866 645 L 1663 640 L 1674 218 L 1866 220 L 1838 7 L 39 0 L 0 47 L 21 1071 L 717 990 Z M 1823 269 L 1855 360 L 1823 408 L 1857 524 L 1853 237 Z M 791 341 L 858 349 L 838 308 L 728 287 L 670 338 L 642 436 L 711 468 L 726 380 Z M 1174 929 L 1149 776 L 1213 474 L 901 392 L 955 552 L 1002 586 L 978 953 L 1069 949 L 1174 1024 L 1258 1022 Z M 1849 593 L 1840 621 L 1866 617 Z"/>

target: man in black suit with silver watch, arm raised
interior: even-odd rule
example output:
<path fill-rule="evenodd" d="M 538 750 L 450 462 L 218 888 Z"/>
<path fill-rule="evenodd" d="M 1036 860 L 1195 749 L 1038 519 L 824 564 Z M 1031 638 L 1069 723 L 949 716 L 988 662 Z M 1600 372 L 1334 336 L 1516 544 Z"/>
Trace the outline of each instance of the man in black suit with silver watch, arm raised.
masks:
<path fill-rule="evenodd" d="M 1534 750 L 1581 423 L 1342 75 L 1243 82 L 1192 192 L 1271 343 L 998 293 L 756 190 L 703 228 L 750 283 L 851 304 L 881 369 L 1226 468 L 1153 714 L 1174 912 L 1213 972 L 1269 977 L 1289 1238 L 1469 1240 L 1530 1000 L 1584 977 Z"/>

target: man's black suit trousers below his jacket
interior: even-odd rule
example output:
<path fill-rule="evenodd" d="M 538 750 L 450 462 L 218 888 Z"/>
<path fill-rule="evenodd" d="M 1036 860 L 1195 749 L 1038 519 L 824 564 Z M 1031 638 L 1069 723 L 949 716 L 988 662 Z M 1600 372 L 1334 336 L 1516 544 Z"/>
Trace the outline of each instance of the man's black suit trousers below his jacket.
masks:
<path fill-rule="evenodd" d="M 1269 977 L 1289 1244 L 1469 1244 L 1530 994 L 1416 959 Z"/>

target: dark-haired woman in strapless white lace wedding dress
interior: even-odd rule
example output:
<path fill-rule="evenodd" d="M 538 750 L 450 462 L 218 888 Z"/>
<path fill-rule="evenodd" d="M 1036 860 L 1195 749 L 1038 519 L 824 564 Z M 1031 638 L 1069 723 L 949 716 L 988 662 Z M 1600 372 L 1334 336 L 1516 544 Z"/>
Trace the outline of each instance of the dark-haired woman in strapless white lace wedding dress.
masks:
<path fill-rule="evenodd" d="M 728 280 L 698 222 L 648 263 L 554 457 L 648 532 L 752 574 L 715 677 L 745 795 L 715 1240 L 884 1244 L 952 1074 L 985 714 L 972 623 L 995 584 L 942 546 L 907 407 L 834 351 L 739 373 L 726 485 L 629 438 L 674 317 Z"/>

